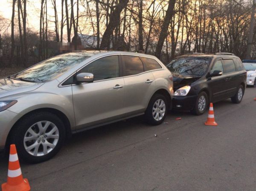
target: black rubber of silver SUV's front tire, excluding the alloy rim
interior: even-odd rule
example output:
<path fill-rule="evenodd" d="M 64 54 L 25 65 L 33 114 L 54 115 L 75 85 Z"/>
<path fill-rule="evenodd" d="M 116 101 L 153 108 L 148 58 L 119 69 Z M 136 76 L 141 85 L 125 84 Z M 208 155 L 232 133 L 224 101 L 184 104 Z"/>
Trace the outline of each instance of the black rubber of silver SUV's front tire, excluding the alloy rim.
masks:
<path fill-rule="evenodd" d="M 50 121 L 54 123 L 59 131 L 59 140 L 55 148 L 49 152 L 49 154 L 41 157 L 35 157 L 25 150 L 23 139 L 28 128 L 39 121 Z M 61 119 L 59 119 L 55 114 L 48 112 L 35 113 L 23 117 L 23 119 L 21 119 L 20 122 L 15 125 L 11 133 L 10 144 L 16 145 L 19 159 L 25 163 L 38 163 L 49 160 L 58 153 L 66 137 L 65 127 Z"/>

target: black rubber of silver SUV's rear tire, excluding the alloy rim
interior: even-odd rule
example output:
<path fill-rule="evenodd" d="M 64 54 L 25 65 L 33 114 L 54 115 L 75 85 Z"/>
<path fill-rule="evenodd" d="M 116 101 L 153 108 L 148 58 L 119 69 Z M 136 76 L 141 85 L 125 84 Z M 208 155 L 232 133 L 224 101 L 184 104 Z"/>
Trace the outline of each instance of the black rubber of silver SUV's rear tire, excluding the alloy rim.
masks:
<path fill-rule="evenodd" d="M 157 100 L 163 100 L 164 103 L 166 104 L 166 111 L 165 111 L 165 114 L 163 116 L 163 118 L 159 121 L 155 120 L 154 117 L 153 117 L 153 106 L 154 106 L 154 103 L 157 101 Z M 166 114 L 167 114 L 167 111 L 168 111 L 168 102 L 166 100 L 166 97 L 163 96 L 162 94 L 154 94 L 152 97 L 151 97 L 151 100 L 149 101 L 148 103 L 148 108 L 146 109 L 145 111 L 145 121 L 148 123 L 148 124 L 151 124 L 151 125 L 160 125 L 161 123 L 163 123 L 165 117 L 166 117 Z"/>

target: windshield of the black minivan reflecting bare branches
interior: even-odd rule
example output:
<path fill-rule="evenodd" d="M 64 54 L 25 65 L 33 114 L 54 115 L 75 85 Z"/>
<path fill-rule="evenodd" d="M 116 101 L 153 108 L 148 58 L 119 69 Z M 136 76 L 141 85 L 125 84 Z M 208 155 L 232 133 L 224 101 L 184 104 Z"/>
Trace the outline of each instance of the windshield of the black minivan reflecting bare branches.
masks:
<path fill-rule="evenodd" d="M 212 58 L 183 57 L 172 60 L 166 67 L 172 73 L 183 76 L 203 76 L 211 63 Z"/>

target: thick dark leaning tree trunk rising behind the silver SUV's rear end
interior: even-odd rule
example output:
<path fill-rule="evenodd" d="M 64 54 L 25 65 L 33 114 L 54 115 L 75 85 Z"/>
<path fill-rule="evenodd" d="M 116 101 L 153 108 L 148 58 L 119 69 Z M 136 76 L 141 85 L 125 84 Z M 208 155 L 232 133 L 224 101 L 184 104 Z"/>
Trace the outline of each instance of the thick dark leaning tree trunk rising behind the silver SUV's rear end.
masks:
<path fill-rule="evenodd" d="M 173 15 L 174 15 L 175 3 L 176 3 L 176 0 L 169 0 L 168 9 L 166 11 L 166 16 L 165 16 L 164 21 L 163 21 L 163 26 L 162 26 L 162 29 L 161 29 L 161 32 L 160 32 L 160 35 L 159 35 L 159 39 L 158 39 L 158 42 L 157 42 L 157 47 L 156 47 L 155 56 L 159 59 L 161 57 L 163 43 L 164 43 L 164 40 L 167 36 L 167 32 L 168 32 L 170 22 L 172 20 Z"/>

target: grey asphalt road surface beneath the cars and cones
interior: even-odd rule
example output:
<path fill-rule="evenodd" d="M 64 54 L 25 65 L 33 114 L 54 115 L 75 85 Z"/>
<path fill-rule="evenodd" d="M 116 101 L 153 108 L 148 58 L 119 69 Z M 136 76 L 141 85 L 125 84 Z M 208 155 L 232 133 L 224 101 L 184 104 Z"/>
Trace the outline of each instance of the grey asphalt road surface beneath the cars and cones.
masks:
<path fill-rule="evenodd" d="M 32 191 L 255 191 L 255 96 L 215 103 L 217 127 L 207 113 L 169 112 L 168 124 L 136 117 L 76 134 L 52 160 L 21 164 L 23 177 Z M 7 168 L 0 159 L 0 183 Z"/>

